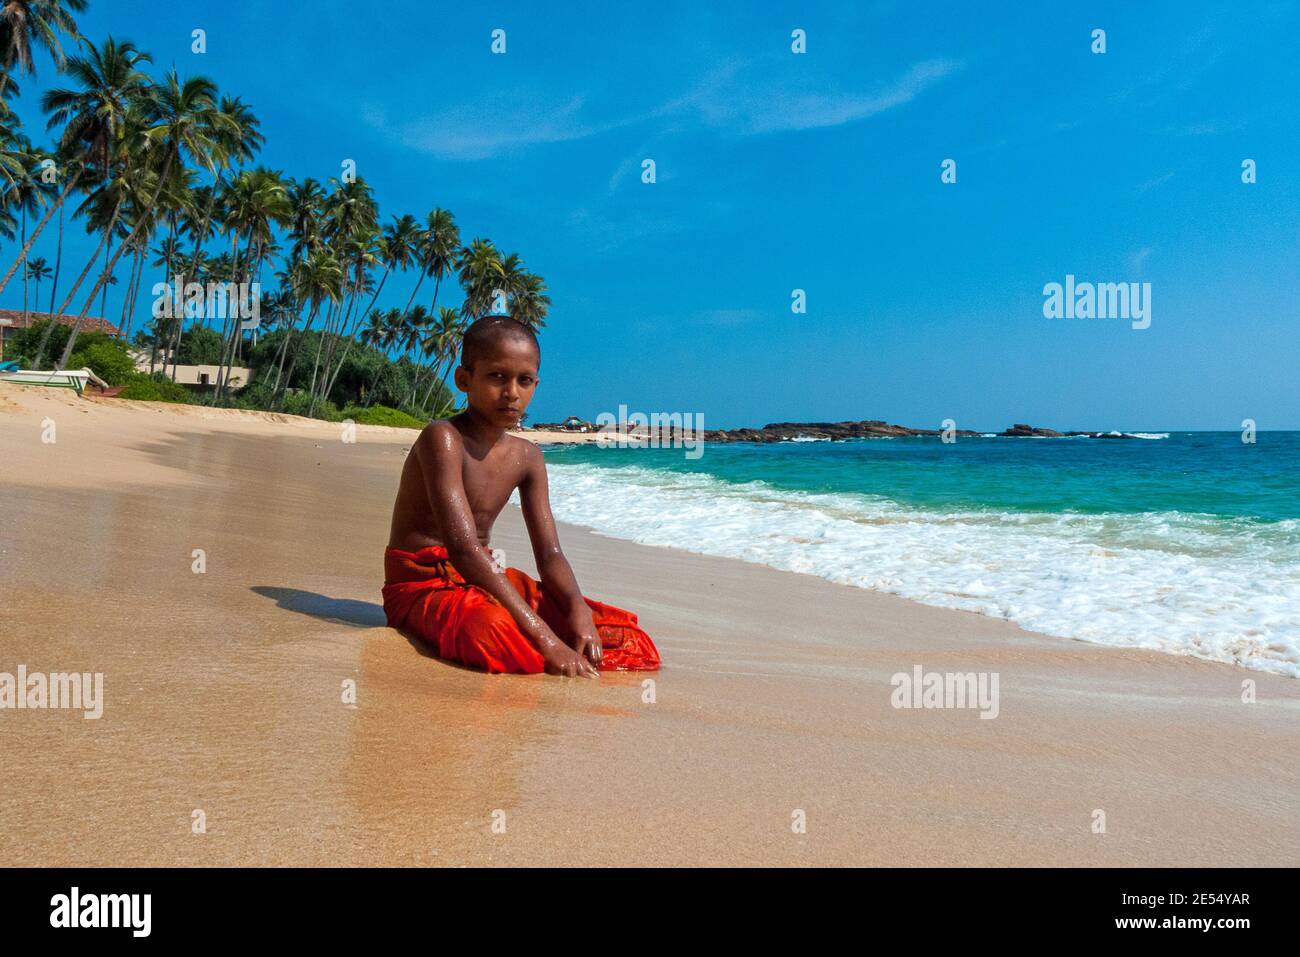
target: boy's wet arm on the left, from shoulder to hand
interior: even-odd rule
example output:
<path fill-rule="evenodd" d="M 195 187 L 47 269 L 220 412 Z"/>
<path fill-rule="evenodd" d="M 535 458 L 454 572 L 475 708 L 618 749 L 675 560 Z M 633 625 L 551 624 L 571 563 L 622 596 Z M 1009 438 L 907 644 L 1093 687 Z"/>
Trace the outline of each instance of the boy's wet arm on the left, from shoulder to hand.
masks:
<path fill-rule="evenodd" d="M 429 507 L 442 531 L 447 557 L 460 576 L 490 594 L 511 614 L 524 636 L 546 659 L 547 670 L 566 675 L 590 672 L 594 676 L 594 668 L 556 637 L 506 576 L 497 571 L 497 566 L 478 544 L 478 529 L 462 478 L 464 452 L 455 426 L 426 426 L 411 447 L 411 454 L 417 456 Z"/>

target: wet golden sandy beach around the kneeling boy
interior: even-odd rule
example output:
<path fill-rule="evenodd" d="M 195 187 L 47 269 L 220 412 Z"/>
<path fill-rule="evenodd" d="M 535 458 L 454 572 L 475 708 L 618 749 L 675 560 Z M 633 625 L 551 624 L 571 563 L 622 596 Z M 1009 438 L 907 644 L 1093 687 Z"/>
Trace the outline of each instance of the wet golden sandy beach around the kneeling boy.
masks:
<path fill-rule="evenodd" d="M 1300 861 L 1286 677 L 572 525 L 653 685 L 442 663 L 378 603 L 413 436 L 0 385 L 0 671 L 104 675 L 98 720 L 0 711 L 4 861 Z M 516 508 L 493 544 L 536 572 Z M 893 707 L 915 666 L 997 672 L 997 718 Z"/>

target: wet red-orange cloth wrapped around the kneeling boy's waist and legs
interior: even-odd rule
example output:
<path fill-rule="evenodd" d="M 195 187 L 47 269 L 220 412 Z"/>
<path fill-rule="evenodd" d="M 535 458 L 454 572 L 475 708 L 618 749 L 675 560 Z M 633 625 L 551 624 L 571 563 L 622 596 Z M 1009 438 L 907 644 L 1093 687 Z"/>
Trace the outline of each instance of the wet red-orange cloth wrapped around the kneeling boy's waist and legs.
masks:
<path fill-rule="evenodd" d="M 564 614 L 532 576 L 506 568 L 506 577 L 546 624 L 566 638 Z M 654 671 L 659 650 L 630 611 L 582 601 L 592 609 L 604 657 L 602 671 Z M 536 675 L 546 670 L 541 651 L 490 594 L 455 570 L 442 546 L 384 551 L 384 611 L 389 627 L 428 644 L 439 658 L 493 674 Z"/>

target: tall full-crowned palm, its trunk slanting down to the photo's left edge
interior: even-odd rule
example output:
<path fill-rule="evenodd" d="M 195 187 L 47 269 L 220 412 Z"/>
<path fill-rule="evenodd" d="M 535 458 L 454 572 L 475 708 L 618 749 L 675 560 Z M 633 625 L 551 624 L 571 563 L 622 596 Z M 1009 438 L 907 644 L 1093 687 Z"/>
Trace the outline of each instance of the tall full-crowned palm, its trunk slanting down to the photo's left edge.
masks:
<path fill-rule="evenodd" d="M 135 44 L 129 40 L 117 43 L 112 36 L 99 48 L 88 40 L 83 43 L 86 55 L 68 61 L 68 74 L 81 88 L 47 90 L 40 98 L 40 108 L 49 114 L 46 129 L 64 127 L 60 150 L 66 160 L 56 164 L 56 169 L 72 166 L 73 176 L 0 280 L 0 293 L 9 285 L 18 263 L 27 255 L 56 209 L 60 211 L 58 222 L 62 226 L 64 202 L 82 178 L 87 164 L 98 163 L 99 174 L 108 176 L 110 152 L 114 143 L 124 138 L 127 111 L 150 86 L 148 75 L 136 69 L 139 64 L 151 62 L 150 56 L 138 51 Z M 60 234 L 60 251 L 61 248 Z"/>

